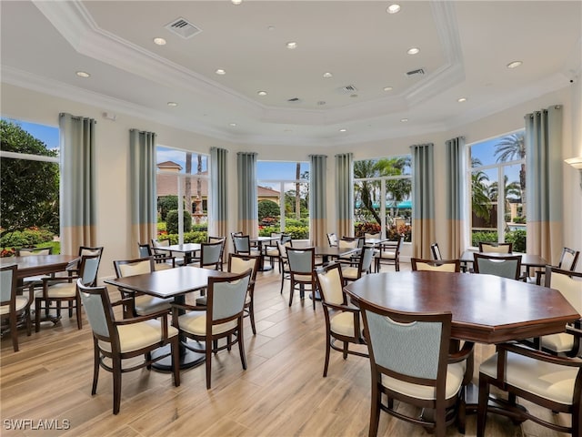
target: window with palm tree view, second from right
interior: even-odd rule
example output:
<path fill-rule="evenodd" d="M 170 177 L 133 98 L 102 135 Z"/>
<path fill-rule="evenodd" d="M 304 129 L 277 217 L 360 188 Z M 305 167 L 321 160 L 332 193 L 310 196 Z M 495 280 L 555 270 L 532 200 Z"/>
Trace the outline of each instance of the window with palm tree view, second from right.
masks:
<path fill-rule="evenodd" d="M 410 156 L 354 162 L 354 233 L 412 240 Z"/>

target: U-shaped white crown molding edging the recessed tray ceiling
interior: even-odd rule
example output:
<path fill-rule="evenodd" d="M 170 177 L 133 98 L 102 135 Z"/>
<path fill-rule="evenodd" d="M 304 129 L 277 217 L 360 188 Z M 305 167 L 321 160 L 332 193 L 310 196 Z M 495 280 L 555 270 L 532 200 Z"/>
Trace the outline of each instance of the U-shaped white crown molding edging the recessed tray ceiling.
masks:
<path fill-rule="evenodd" d="M 249 117 L 281 124 L 333 125 L 347 120 L 378 117 L 406 111 L 465 78 L 455 6 L 449 2 L 431 2 L 431 10 L 447 64 L 432 72 L 399 96 L 386 97 L 366 104 L 351 104 L 323 110 L 266 107 L 236 91 L 196 74 L 162 56 L 136 46 L 101 29 L 80 2 L 46 2 L 34 0 L 35 6 L 65 37 L 75 50 L 110 66 L 145 77 L 157 84 L 172 84 L 195 96 L 218 98 L 218 104 L 243 111 Z"/>

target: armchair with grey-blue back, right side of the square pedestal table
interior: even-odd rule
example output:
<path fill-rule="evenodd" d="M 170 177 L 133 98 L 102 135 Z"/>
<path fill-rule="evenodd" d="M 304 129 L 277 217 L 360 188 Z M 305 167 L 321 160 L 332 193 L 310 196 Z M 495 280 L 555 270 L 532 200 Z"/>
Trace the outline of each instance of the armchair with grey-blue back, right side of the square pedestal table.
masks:
<path fill-rule="evenodd" d="M 252 269 L 229 278 L 209 278 L 206 306 L 172 304 L 172 325 L 187 338 L 186 349 L 206 356 L 206 389 L 211 387 L 212 356 L 238 343 L 243 369 L 246 355 L 243 333 L 245 300 Z M 219 345 L 219 340 L 226 344 Z M 196 344 L 204 344 L 204 348 Z"/>

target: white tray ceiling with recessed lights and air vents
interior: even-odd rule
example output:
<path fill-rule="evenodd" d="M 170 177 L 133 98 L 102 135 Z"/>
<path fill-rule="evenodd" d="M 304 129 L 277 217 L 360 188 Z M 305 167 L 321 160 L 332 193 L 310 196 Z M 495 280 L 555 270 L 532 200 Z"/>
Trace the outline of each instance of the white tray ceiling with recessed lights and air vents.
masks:
<path fill-rule="evenodd" d="M 580 74 L 580 1 L 408 0 L 389 15 L 390 3 L 2 0 L 2 80 L 104 112 L 285 147 L 450 129 Z M 165 26 L 177 18 L 201 32 L 175 35 Z M 420 53 L 407 55 L 413 46 Z M 516 60 L 523 65 L 508 69 Z M 418 68 L 425 74 L 406 75 Z"/>

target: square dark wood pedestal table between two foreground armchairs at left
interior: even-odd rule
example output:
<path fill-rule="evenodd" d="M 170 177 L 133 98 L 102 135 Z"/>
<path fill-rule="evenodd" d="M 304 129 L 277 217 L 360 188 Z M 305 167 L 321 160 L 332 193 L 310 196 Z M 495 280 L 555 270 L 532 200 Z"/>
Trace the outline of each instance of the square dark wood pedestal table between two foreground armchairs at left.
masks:
<path fill-rule="evenodd" d="M 106 284 L 114 285 L 125 290 L 135 291 L 154 296 L 156 298 L 172 298 L 177 304 L 186 302 L 186 294 L 206 289 L 210 278 L 230 278 L 236 276 L 222 270 L 203 269 L 194 266 L 177 267 L 174 269 L 155 270 L 135 276 L 125 276 L 116 279 L 105 279 Z M 204 353 L 190 351 L 186 348 L 186 336 L 180 335 L 180 369 L 188 369 L 205 361 Z M 196 349 L 204 350 L 204 344 L 196 342 Z M 169 348 L 166 346 L 165 348 Z M 153 355 L 166 353 L 166 349 L 161 348 Z M 152 367 L 158 371 L 171 371 L 172 359 L 167 357 L 164 360 L 156 361 Z"/>

